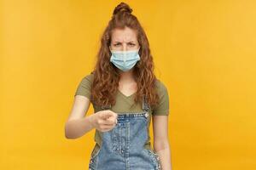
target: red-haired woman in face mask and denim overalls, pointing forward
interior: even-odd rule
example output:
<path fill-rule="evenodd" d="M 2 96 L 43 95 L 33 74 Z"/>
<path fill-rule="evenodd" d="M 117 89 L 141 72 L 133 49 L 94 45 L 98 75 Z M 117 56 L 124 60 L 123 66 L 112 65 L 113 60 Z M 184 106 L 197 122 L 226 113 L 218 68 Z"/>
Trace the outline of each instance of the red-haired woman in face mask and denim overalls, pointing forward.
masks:
<path fill-rule="evenodd" d="M 168 92 L 154 76 L 148 38 L 131 12 L 126 3 L 114 8 L 95 69 L 79 83 L 65 126 L 67 139 L 96 128 L 90 170 L 171 169 Z M 90 102 L 95 113 L 84 116 Z"/>

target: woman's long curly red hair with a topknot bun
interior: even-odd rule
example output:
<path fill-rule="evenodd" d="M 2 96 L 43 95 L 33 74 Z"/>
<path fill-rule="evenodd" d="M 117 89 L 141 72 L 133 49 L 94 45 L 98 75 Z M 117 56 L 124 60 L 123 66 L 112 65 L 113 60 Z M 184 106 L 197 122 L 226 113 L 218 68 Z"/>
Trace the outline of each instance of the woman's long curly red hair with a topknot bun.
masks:
<path fill-rule="evenodd" d="M 156 77 L 154 76 L 154 62 L 150 53 L 148 38 L 140 25 L 137 17 L 131 14 L 132 9 L 126 3 L 119 3 L 113 10 L 112 19 L 109 20 L 101 38 L 101 47 L 97 53 L 97 61 L 92 73 L 94 79 L 91 88 L 91 99 L 95 105 L 102 107 L 115 104 L 115 95 L 119 87 L 119 71 L 110 62 L 111 52 L 109 45 L 113 29 L 124 29 L 125 26 L 137 33 L 140 45 L 140 60 L 134 66 L 133 74 L 137 82 L 135 103 L 142 102 L 146 98 L 148 106 L 158 105 L 159 95 L 156 90 Z"/>

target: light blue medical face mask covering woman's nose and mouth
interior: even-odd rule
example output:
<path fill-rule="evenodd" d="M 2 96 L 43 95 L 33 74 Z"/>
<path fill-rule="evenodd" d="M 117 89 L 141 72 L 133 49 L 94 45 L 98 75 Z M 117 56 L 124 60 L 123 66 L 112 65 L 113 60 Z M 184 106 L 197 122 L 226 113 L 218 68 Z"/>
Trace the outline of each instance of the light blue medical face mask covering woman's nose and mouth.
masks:
<path fill-rule="evenodd" d="M 137 61 L 140 60 L 140 55 L 138 54 L 139 48 L 130 51 L 111 51 L 110 62 L 118 67 L 121 71 L 129 71 L 136 65 Z"/>

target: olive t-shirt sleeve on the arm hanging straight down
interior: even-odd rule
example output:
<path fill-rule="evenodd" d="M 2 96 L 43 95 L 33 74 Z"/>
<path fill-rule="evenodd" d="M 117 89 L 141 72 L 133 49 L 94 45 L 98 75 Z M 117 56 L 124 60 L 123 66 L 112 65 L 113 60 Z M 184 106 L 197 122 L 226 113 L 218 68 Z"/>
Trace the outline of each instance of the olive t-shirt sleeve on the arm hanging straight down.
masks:
<path fill-rule="evenodd" d="M 157 90 L 160 97 L 159 105 L 157 105 L 152 115 L 169 115 L 169 94 L 166 86 L 162 82 L 157 83 Z"/>

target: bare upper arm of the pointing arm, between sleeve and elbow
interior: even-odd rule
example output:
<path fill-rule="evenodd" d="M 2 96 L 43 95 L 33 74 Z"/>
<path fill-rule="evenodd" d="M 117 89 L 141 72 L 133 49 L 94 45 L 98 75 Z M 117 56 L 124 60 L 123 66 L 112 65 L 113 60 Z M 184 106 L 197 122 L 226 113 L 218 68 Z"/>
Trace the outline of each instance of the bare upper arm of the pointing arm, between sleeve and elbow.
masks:
<path fill-rule="evenodd" d="M 73 107 L 67 121 L 84 117 L 89 109 L 89 106 L 90 99 L 83 95 L 76 95 L 74 97 Z"/>

